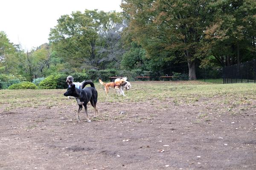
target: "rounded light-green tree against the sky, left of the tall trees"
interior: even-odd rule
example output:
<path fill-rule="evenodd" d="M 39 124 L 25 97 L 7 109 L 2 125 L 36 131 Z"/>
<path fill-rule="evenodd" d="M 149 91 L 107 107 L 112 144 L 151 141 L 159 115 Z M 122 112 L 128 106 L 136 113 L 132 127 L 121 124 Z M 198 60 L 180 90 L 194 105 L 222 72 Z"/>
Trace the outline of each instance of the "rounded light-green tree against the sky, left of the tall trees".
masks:
<path fill-rule="evenodd" d="M 119 13 L 97 10 L 73 12 L 58 19 L 50 31 L 49 41 L 57 55 L 72 67 L 95 68 L 99 65 L 99 34 L 104 35 L 116 24 L 122 23 Z"/>

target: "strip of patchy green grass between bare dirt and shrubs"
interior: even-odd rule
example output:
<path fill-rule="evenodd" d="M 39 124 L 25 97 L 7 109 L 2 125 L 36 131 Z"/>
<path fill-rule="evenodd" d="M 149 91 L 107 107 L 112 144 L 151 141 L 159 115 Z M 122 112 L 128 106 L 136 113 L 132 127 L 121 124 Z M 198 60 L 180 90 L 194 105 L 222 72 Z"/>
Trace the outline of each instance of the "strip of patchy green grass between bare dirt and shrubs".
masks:
<path fill-rule="evenodd" d="M 198 81 L 137 81 L 131 82 L 131 89 L 125 91 L 127 96 L 117 96 L 114 89 L 109 97 L 105 95 L 102 85 L 95 83 L 99 102 L 146 102 L 171 101 L 175 105 L 207 103 L 211 99 L 215 104 L 251 105 L 256 99 L 256 84 L 207 84 Z M 52 108 L 60 103 L 71 104 L 63 94 L 66 89 L 55 90 L 0 90 L 0 111 L 17 108 Z"/>

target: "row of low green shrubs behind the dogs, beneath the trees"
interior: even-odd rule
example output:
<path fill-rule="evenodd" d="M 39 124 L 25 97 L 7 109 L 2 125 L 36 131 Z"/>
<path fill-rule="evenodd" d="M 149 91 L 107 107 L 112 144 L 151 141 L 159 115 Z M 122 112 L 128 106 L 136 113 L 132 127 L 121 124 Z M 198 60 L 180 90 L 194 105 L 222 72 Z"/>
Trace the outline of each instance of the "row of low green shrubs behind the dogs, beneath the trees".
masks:
<path fill-rule="evenodd" d="M 107 70 L 88 70 L 83 71 L 81 73 L 73 73 L 70 74 L 74 78 L 74 82 L 82 82 L 84 80 L 92 80 L 94 82 L 98 82 L 99 79 L 102 79 L 105 82 L 109 81 L 109 77 L 127 77 L 128 81 L 136 80 L 135 77 L 138 76 L 149 76 L 149 77 L 156 77 L 155 73 L 151 71 L 142 71 L 141 69 L 131 70 L 131 71 L 124 71 L 124 70 L 115 70 L 115 69 L 107 69 Z M 13 85 L 9 89 L 25 89 L 25 88 L 32 88 L 35 87 L 42 88 L 42 89 L 63 89 L 67 88 L 67 74 L 55 74 L 50 75 L 46 78 L 41 77 L 37 79 L 33 79 L 33 83 L 28 84 L 28 82 L 24 83 L 17 81 L 17 84 Z M 174 80 L 186 80 L 186 74 L 174 73 Z"/>

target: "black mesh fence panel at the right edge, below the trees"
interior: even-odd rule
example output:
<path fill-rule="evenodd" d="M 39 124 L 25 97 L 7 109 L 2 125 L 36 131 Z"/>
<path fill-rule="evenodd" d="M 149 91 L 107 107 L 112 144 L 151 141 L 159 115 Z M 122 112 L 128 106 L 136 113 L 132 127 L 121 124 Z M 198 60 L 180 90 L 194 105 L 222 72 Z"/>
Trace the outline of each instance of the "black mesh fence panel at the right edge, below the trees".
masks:
<path fill-rule="evenodd" d="M 256 60 L 223 68 L 223 83 L 256 82 Z"/>

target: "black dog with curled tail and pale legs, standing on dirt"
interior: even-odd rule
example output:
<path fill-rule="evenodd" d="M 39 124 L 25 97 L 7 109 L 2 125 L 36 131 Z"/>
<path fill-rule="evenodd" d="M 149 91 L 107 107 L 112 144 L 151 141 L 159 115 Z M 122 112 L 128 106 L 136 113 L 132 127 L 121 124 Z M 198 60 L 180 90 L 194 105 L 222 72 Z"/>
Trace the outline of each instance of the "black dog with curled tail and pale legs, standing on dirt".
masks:
<path fill-rule="evenodd" d="M 84 88 L 88 84 L 90 84 L 91 87 Z M 97 92 L 93 82 L 83 81 L 81 89 L 76 88 L 76 85 L 72 85 L 71 87 L 69 87 L 67 89 L 66 93 L 64 93 L 64 96 L 73 96 L 73 97 L 76 97 L 78 99 L 77 103 L 79 105 L 79 109 L 76 113 L 77 121 L 80 120 L 79 119 L 79 112 L 81 111 L 81 109 L 83 108 L 83 105 L 84 105 L 84 110 L 85 110 L 85 113 L 86 113 L 87 122 L 91 122 L 90 119 L 88 118 L 88 113 L 87 113 L 87 103 L 89 101 L 90 101 L 91 105 L 94 108 L 93 116 L 94 117 L 98 116 L 98 109 L 96 108 L 98 92 Z"/>

